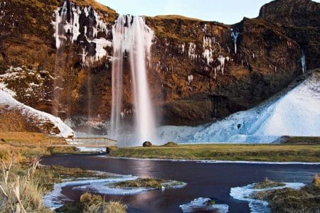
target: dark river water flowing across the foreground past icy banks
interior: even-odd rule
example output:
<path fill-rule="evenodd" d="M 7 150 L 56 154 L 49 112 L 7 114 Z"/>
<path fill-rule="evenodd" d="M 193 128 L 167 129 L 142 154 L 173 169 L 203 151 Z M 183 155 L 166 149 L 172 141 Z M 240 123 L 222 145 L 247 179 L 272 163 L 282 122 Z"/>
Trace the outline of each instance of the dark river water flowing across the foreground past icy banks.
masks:
<path fill-rule="evenodd" d="M 122 200 L 129 212 L 182 212 L 181 204 L 198 197 L 229 205 L 229 212 L 250 212 L 247 202 L 230 197 L 230 188 L 260 182 L 265 178 L 283 182 L 311 182 L 320 174 L 320 165 L 277 165 L 250 163 L 197 163 L 164 160 L 128 160 L 102 158 L 97 155 L 57 155 L 43 158 L 44 165 L 97 170 L 142 178 L 163 178 L 186 182 L 181 189 L 155 190 L 137 195 L 109 196 Z M 63 188 L 63 194 L 78 200 L 82 192 Z"/>

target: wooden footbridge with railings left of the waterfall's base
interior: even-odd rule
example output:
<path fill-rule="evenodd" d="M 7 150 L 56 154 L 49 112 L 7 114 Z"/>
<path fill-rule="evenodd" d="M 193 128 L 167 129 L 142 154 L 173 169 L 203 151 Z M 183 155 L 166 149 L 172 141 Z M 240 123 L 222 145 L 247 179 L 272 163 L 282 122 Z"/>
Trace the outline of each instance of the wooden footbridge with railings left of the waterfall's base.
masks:
<path fill-rule="evenodd" d="M 117 146 L 117 141 L 110 138 L 57 138 L 49 137 L 39 141 L 40 146 L 46 147 L 87 147 L 107 148 Z"/>

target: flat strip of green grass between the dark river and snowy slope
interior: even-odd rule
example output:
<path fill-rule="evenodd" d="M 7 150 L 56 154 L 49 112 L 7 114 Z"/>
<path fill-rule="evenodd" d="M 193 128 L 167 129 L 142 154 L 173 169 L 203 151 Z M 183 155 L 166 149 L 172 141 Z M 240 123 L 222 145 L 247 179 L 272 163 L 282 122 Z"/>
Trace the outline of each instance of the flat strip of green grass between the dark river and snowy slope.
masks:
<path fill-rule="evenodd" d="M 114 148 L 110 156 L 188 160 L 320 162 L 320 145 L 196 144 L 176 147 Z"/>

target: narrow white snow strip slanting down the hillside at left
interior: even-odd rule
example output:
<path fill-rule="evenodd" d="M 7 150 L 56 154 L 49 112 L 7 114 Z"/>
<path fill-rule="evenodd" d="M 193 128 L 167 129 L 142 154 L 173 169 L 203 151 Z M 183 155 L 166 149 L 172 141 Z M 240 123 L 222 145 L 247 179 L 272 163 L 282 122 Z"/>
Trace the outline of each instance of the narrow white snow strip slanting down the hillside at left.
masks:
<path fill-rule="evenodd" d="M 74 132 L 72 129 L 70 129 L 69 126 L 63 123 L 61 119 L 48 114 L 43 111 L 38 111 L 36 109 L 33 109 L 31 107 L 26 106 L 25 104 L 22 104 L 21 102 L 18 102 L 14 97 L 12 97 L 14 93 L 11 92 L 9 89 L 6 89 L 4 87 L 4 84 L 0 85 L 0 106 L 1 105 L 7 105 L 9 106 L 9 109 L 19 109 L 22 111 L 23 115 L 29 117 L 29 118 L 36 118 L 37 121 L 40 121 L 42 124 L 46 122 L 50 122 L 51 124 L 55 125 L 60 130 L 60 133 L 58 136 L 62 137 L 68 137 L 73 136 Z"/>

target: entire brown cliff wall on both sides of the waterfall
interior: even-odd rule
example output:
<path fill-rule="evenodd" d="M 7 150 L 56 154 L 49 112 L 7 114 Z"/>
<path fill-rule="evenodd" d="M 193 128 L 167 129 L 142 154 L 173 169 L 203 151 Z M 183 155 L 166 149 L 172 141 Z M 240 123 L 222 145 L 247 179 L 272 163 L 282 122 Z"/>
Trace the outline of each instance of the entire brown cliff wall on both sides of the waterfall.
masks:
<path fill-rule="evenodd" d="M 63 28 L 63 48 L 57 48 L 53 35 L 62 0 L 1 1 L 0 83 L 36 109 L 73 121 L 106 121 L 112 96 L 108 44 L 117 13 L 95 1 L 75 2 L 65 4 L 65 17 L 74 24 Z M 278 0 L 263 6 L 259 18 L 234 26 L 146 17 L 155 33 L 149 82 L 162 124 L 204 124 L 255 106 L 302 73 L 302 50 L 307 66 L 319 67 L 318 11 L 311 1 Z M 15 67 L 23 72 L 12 74 Z M 132 109 L 128 67 L 125 111 Z"/>

